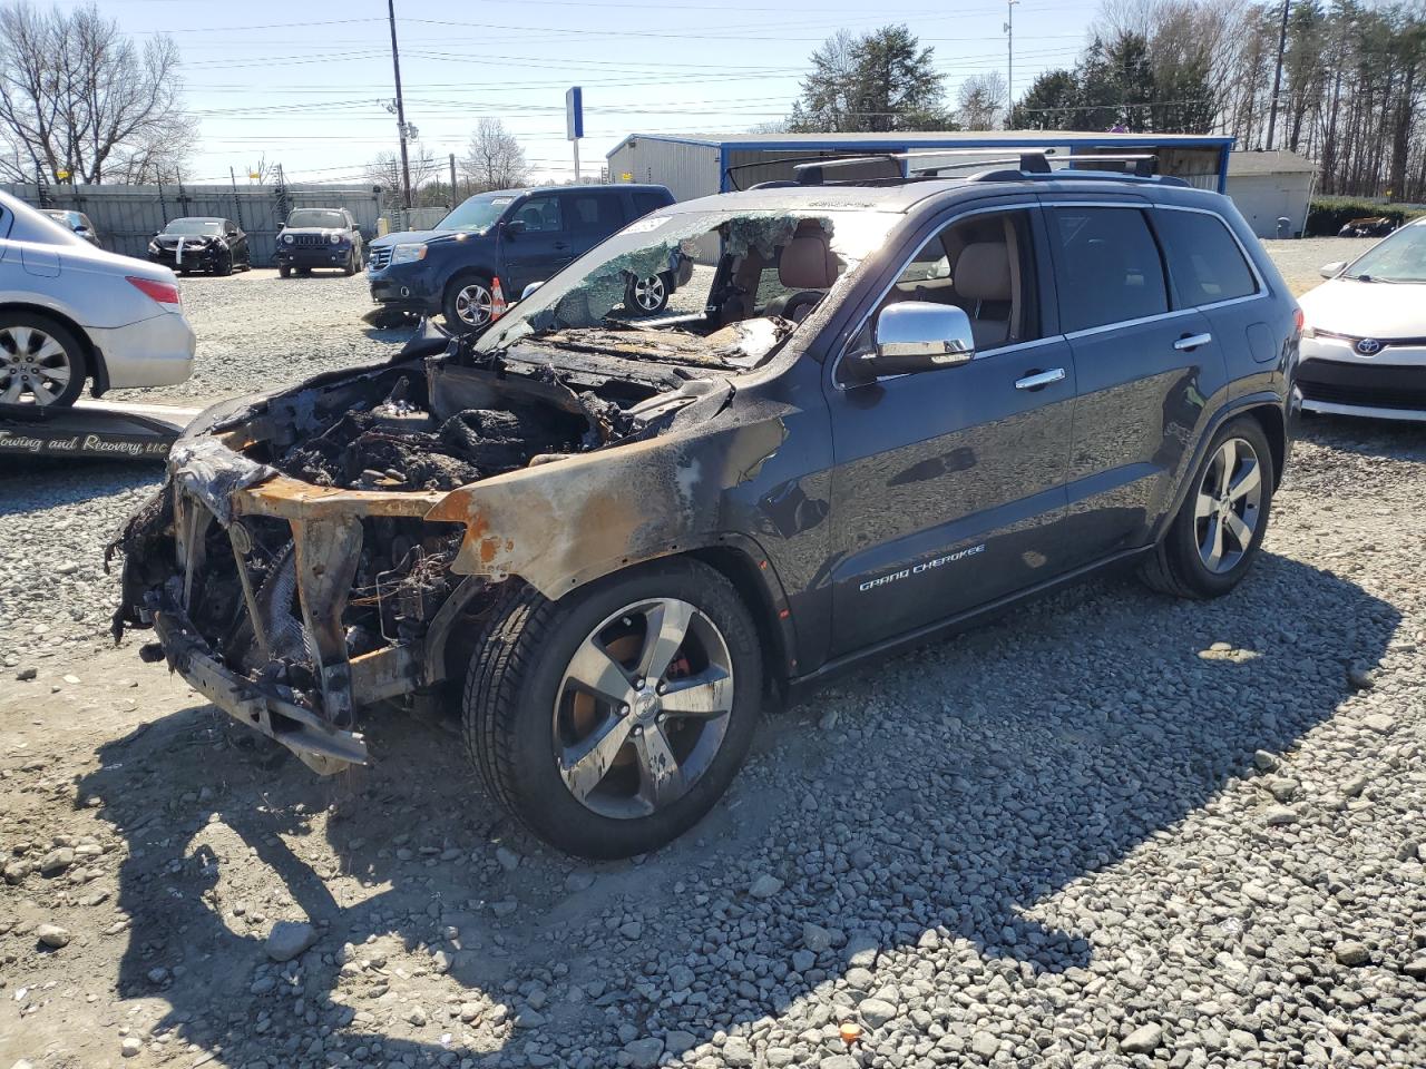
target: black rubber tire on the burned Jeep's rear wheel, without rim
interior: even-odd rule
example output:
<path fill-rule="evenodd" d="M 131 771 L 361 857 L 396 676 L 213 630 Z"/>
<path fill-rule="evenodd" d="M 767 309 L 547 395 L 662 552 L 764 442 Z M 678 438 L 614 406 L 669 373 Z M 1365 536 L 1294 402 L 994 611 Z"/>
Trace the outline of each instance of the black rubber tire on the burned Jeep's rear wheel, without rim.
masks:
<path fill-rule="evenodd" d="M 1258 465 L 1258 485 L 1261 487 L 1259 503 L 1255 506 L 1256 515 L 1252 523 L 1252 537 L 1248 546 L 1241 550 L 1241 556 L 1226 570 L 1215 572 L 1205 563 L 1199 547 L 1198 493 L 1205 477 L 1214 470 L 1219 450 L 1231 439 L 1251 446 L 1253 462 Z M 1204 600 L 1222 597 L 1231 592 L 1252 567 L 1262 546 L 1263 534 L 1268 532 L 1268 520 L 1272 513 L 1272 490 L 1276 479 L 1273 469 L 1272 449 L 1262 425 L 1252 416 L 1231 419 L 1208 443 L 1204 460 L 1194 472 L 1192 482 L 1184 496 L 1178 515 L 1169 525 L 1164 537 L 1155 546 L 1154 553 L 1144 563 L 1139 574 L 1144 582 L 1165 594 L 1174 597 L 1188 597 Z"/>

